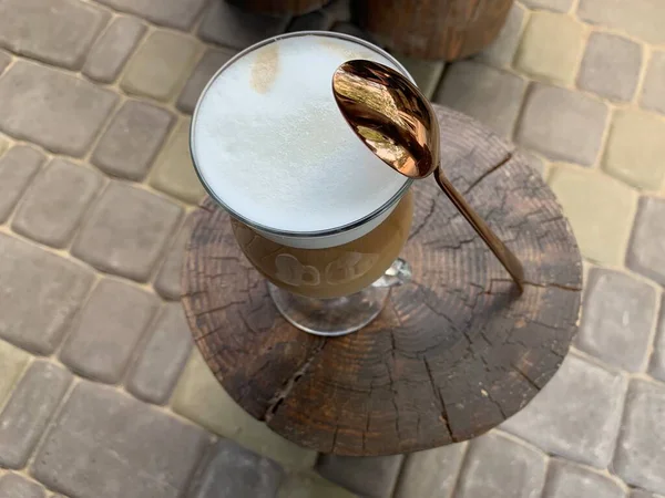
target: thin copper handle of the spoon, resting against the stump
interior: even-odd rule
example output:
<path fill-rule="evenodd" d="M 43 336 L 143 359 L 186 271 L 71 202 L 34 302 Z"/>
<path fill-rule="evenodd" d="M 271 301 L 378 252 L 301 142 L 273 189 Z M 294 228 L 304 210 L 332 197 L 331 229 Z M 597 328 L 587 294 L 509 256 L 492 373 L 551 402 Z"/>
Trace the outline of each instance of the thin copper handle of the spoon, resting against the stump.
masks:
<path fill-rule="evenodd" d="M 510 276 L 513 278 L 520 292 L 524 290 L 524 269 L 522 263 L 515 258 L 515 255 L 505 247 L 505 245 L 497 237 L 492 229 L 478 216 L 469 203 L 462 197 L 462 195 L 452 186 L 450 180 L 443 176 L 441 168 L 437 168 L 434 173 L 437 183 L 441 190 L 446 193 L 448 198 L 454 204 L 462 216 L 471 224 L 478 235 L 484 240 L 488 247 L 492 250 L 494 256 L 501 261 L 501 264 L 508 270 Z"/>

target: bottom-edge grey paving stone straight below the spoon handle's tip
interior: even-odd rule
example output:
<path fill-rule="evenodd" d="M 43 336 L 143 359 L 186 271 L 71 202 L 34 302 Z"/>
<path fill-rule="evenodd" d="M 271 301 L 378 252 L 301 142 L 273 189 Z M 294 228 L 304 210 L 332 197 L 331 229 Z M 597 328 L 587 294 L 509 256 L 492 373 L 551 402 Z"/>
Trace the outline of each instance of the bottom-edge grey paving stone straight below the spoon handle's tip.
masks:
<path fill-rule="evenodd" d="M 473 439 L 460 474 L 456 498 L 535 498 L 545 480 L 543 454 L 505 436 Z"/>

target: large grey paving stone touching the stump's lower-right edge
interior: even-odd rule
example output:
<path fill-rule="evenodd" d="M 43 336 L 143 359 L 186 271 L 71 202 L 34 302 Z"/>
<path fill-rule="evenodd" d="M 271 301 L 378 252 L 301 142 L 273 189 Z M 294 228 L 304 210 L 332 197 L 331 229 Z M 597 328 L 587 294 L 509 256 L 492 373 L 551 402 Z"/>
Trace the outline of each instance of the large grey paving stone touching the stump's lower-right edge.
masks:
<path fill-rule="evenodd" d="M 569 354 L 540 394 L 502 427 L 548 453 L 605 468 L 625 391 L 623 375 Z"/>

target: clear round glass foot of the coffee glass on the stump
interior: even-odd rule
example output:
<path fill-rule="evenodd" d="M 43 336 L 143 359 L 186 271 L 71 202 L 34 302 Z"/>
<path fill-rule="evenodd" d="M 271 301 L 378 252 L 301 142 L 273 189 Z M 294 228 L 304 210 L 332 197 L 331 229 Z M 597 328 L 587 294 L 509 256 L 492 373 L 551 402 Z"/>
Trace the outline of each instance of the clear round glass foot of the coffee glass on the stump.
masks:
<path fill-rule="evenodd" d="M 268 282 L 282 315 L 294 326 L 316 335 L 350 334 L 369 324 L 383 309 L 390 289 L 369 286 L 351 295 L 334 299 L 305 298 Z"/>

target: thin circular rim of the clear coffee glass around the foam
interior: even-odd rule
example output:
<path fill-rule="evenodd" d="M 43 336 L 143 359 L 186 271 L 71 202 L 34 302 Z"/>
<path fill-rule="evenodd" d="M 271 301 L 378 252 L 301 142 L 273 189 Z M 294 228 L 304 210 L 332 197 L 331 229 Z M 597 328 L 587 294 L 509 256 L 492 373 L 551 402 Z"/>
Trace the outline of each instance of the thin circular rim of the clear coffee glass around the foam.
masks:
<path fill-rule="evenodd" d="M 196 101 L 196 106 L 194 107 L 194 113 L 192 114 L 192 123 L 190 125 L 190 156 L 192 158 L 192 164 L 194 165 L 194 172 L 196 173 L 196 176 L 198 177 L 198 180 L 201 181 L 201 184 L 203 185 L 203 188 L 206 190 L 207 195 L 211 196 L 211 198 L 217 203 L 221 207 L 223 207 L 231 216 L 233 216 L 234 218 L 236 218 L 238 221 L 247 225 L 250 228 L 255 228 L 259 231 L 266 232 L 266 234 L 272 234 L 275 236 L 279 236 L 279 237 L 288 237 L 288 238 L 315 238 L 315 237 L 327 237 L 327 236 L 334 236 L 334 235 L 338 235 L 338 234 L 344 234 L 346 231 L 352 230 L 355 228 L 359 228 L 361 226 L 364 226 L 365 224 L 376 219 L 377 217 L 383 215 L 388 209 L 390 209 L 395 204 L 397 204 L 402 197 L 403 195 L 409 190 L 409 187 L 411 186 L 411 184 L 413 183 L 413 178 L 408 178 L 405 177 L 405 183 L 403 185 L 399 188 L 399 190 L 397 193 L 395 193 L 395 195 L 388 199 L 382 206 L 380 206 L 379 208 L 375 209 L 374 211 L 371 211 L 370 214 L 364 216 L 362 218 L 357 219 L 356 221 L 351 221 L 350 224 L 347 225 L 342 225 L 336 228 L 328 228 L 325 230 L 315 230 L 315 231 L 293 231 L 293 230 L 280 230 L 274 227 L 268 227 L 266 225 L 262 225 L 258 224 L 256 221 L 250 220 L 249 218 L 247 218 L 244 215 L 241 215 L 239 212 L 237 212 L 236 210 L 234 210 L 233 208 L 231 208 L 226 203 L 224 203 L 221 197 L 214 191 L 214 189 L 208 185 L 208 183 L 205 180 L 205 178 L 203 177 L 203 174 L 201 173 L 200 168 L 198 168 L 198 164 L 196 160 L 196 152 L 195 152 L 195 147 L 194 147 L 194 135 L 195 135 L 195 126 L 194 124 L 196 123 L 196 118 L 198 115 L 198 111 L 201 107 L 201 103 L 203 102 L 207 91 L 209 90 L 209 87 L 212 86 L 212 84 L 217 80 L 217 77 L 219 76 L 219 74 L 222 74 L 228 66 L 231 66 L 233 63 L 235 63 L 238 59 L 242 59 L 243 56 L 247 55 L 250 52 L 254 52 L 255 50 L 265 46 L 269 43 L 274 43 L 278 40 L 283 40 L 283 39 L 287 39 L 287 38 L 296 38 L 296 37 L 307 37 L 307 35 L 317 35 L 317 37 L 327 37 L 327 38 L 338 38 L 341 40 L 346 40 L 346 41 L 350 41 L 354 43 L 358 43 L 360 45 L 364 45 L 365 48 L 368 48 L 375 52 L 377 52 L 379 55 L 385 56 L 386 59 L 388 59 L 390 62 L 392 62 L 401 72 L 402 74 L 405 74 L 407 77 L 409 77 L 409 80 L 413 81 L 413 77 L 409 74 L 409 72 L 407 71 L 407 69 L 397 60 L 395 59 L 395 56 L 392 56 L 391 54 L 389 54 L 388 52 L 386 52 L 383 49 L 375 45 L 374 43 L 370 43 L 366 40 L 362 40 L 358 37 L 354 37 L 350 34 L 346 34 L 346 33 L 337 33 L 334 31 L 295 31 L 293 33 L 284 33 L 284 34 L 278 34 L 276 37 L 270 37 L 267 38 L 265 40 L 262 40 L 260 42 L 257 42 L 248 48 L 246 48 L 245 50 L 238 52 L 237 54 L 235 54 L 233 58 L 231 58 L 227 62 L 225 62 L 222 68 L 219 68 L 215 74 L 213 75 L 213 77 L 209 79 L 209 81 L 206 83 L 205 87 L 203 89 L 203 91 L 201 92 L 201 95 L 198 96 L 198 100 Z M 389 167 L 388 165 L 386 165 L 386 167 Z"/>

